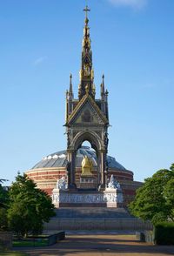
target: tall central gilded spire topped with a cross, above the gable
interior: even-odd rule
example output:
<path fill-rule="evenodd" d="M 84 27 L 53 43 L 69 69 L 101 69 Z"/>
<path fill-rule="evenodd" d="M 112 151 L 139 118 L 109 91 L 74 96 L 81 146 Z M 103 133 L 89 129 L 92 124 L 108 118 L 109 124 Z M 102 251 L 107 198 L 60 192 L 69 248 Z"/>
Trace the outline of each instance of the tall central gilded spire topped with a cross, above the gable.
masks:
<path fill-rule="evenodd" d="M 88 12 L 90 9 L 88 6 L 84 8 L 85 19 L 84 19 L 84 38 L 83 38 L 83 49 L 82 49 L 82 64 L 80 70 L 80 84 L 78 87 L 78 98 L 81 99 L 86 94 L 85 87 L 88 84 L 89 94 L 92 98 L 95 98 L 94 90 L 94 71 L 92 70 L 92 51 L 90 49 L 90 27 Z"/>

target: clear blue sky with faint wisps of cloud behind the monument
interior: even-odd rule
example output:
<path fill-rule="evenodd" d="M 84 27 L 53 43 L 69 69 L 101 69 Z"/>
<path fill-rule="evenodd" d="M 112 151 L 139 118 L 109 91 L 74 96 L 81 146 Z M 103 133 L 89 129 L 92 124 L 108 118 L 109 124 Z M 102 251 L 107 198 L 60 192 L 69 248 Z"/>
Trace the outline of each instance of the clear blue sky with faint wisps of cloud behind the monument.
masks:
<path fill-rule="evenodd" d="M 174 1 L 89 0 L 95 84 L 110 92 L 109 154 L 144 180 L 174 162 Z M 0 178 L 66 148 L 77 97 L 83 0 L 0 3 Z"/>

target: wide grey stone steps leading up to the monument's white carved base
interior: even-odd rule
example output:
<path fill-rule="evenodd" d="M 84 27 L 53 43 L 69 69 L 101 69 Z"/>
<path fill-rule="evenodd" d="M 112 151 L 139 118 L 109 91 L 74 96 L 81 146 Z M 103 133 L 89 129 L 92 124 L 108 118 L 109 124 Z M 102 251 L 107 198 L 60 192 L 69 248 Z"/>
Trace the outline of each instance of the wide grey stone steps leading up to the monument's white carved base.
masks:
<path fill-rule="evenodd" d="M 141 231 L 150 230 L 151 223 L 131 216 L 124 208 L 70 207 L 58 208 L 57 215 L 44 224 L 52 231 Z"/>

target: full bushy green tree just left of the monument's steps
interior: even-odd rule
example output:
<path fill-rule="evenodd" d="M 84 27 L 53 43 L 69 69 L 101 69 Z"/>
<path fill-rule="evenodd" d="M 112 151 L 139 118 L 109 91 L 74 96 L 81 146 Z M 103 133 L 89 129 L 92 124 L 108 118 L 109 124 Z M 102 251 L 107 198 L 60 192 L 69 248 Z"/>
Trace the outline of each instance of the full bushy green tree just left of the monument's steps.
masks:
<path fill-rule="evenodd" d="M 8 223 L 10 230 L 18 237 L 43 231 L 43 222 L 49 222 L 55 215 L 50 196 L 37 188 L 26 174 L 17 175 L 10 187 Z"/>

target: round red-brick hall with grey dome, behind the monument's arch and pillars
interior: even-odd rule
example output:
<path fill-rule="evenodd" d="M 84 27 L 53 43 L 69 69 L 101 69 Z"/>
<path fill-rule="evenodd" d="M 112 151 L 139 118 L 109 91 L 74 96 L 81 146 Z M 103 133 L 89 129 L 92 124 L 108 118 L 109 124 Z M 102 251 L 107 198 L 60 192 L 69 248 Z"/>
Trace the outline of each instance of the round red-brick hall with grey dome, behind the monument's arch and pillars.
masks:
<path fill-rule="evenodd" d="M 88 156 L 92 160 L 93 170 L 92 174 L 97 177 L 97 156 L 96 152 L 90 149 L 88 146 L 83 146 L 77 151 L 76 158 L 76 184 L 77 187 L 81 187 L 80 174 L 82 173 L 82 161 L 84 156 Z M 124 205 L 127 205 L 135 197 L 137 188 L 142 185 L 141 182 L 133 180 L 133 172 L 120 165 L 115 158 L 108 156 L 108 167 L 110 179 L 111 174 L 120 183 L 124 193 Z M 61 151 L 50 154 L 44 157 L 37 165 L 33 166 L 26 172 L 30 179 L 33 179 L 37 183 L 37 187 L 43 189 L 45 192 L 52 194 L 52 190 L 57 185 L 57 179 L 66 177 L 66 163 L 67 152 Z"/>

